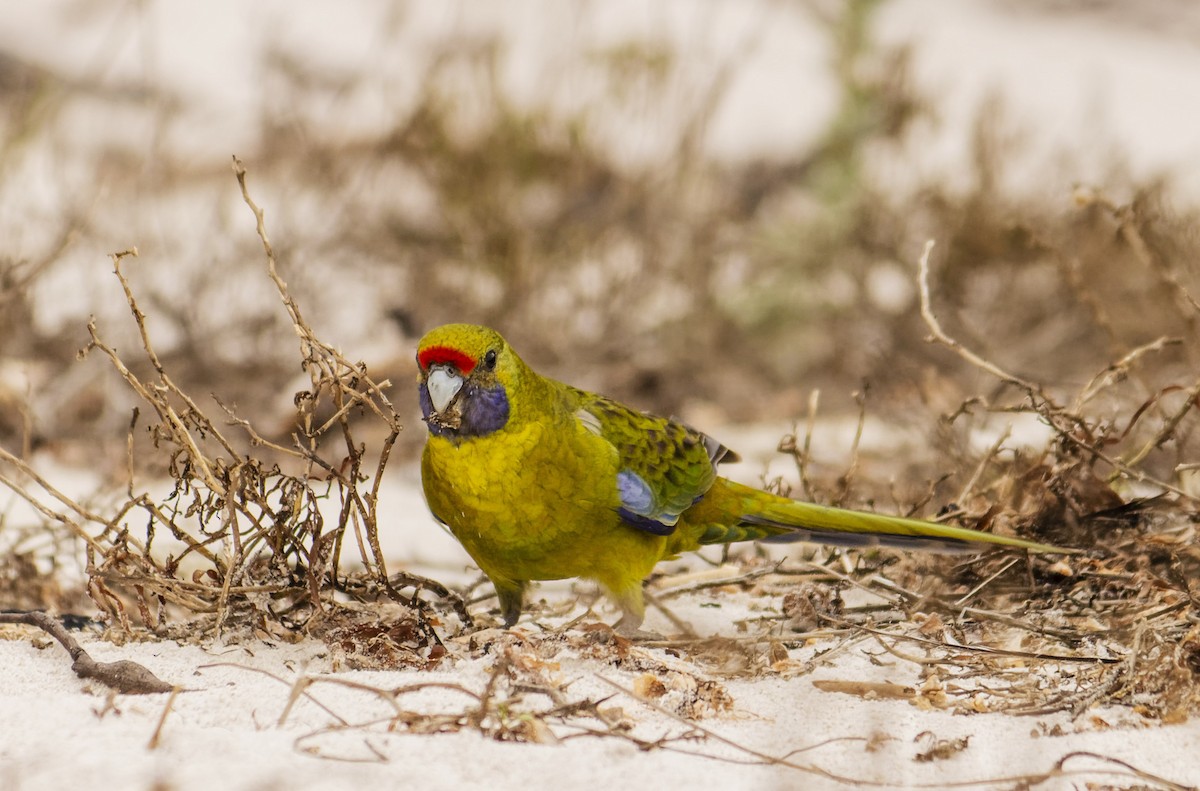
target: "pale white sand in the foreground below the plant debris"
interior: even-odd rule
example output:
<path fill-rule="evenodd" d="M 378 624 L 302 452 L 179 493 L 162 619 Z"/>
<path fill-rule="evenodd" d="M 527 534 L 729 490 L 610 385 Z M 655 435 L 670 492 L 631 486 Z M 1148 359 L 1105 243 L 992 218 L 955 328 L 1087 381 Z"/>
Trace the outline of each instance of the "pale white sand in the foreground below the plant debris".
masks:
<path fill-rule="evenodd" d="M 389 733 L 390 707 L 378 696 L 317 683 L 312 696 L 286 711 L 290 682 L 306 675 L 344 678 L 384 688 L 446 682 L 481 690 L 487 661 L 456 659 L 434 672 L 331 672 L 324 646 L 241 643 L 206 649 L 173 643 L 114 647 L 84 643 L 97 659 L 133 658 L 184 690 L 163 720 L 166 694 L 110 697 L 82 683 L 56 647 L 29 640 L 0 641 L 5 694 L 0 715 L 0 784 L 35 789 L 496 789 L 616 787 L 631 775 L 648 787 L 809 787 L 862 784 L 887 787 L 1013 787 L 1021 774 L 1050 771 L 1074 751 L 1118 759 L 1176 781 L 1196 781 L 1193 723 L 1170 727 L 1075 732 L 1067 718 L 955 717 L 919 711 L 902 701 L 865 701 L 818 691 L 814 679 L 912 682 L 902 667 L 878 667 L 862 653 L 842 655 L 811 677 L 727 681 L 732 712 L 700 720 L 712 735 L 641 751 L 612 738 L 578 738 L 562 744 L 514 744 L 473 731 L 438 736 Z M 266 671 L 263 675 L 256 671 Z M 630 688 L 635 673 L 604 664 L 560 660 L 572 679 L 572 697 L 600 699 Z M 444 690 L 418 693 L 404 706 L 439 711 L 461 705 Z M 656 739 L 690 729 L 624 694 L 611 701 Z M 336 714 L 336 718 L 335 718 Z M 337 719 L 340 718 L 340 719 Z M 353 726 L 340 730 L 341 720 Z M 161 723 L 161 727 L 160 727 Z M 368 725 L 373 723 L 373 725 Z M 1064 736 L 1039 736 L 1055 725 Z M 558 727 L 559 736 L 572 732 Z M 157 745 L 150 741 L 157 733 Z M 923 736 L 924 735 L 924 736 Z M 970 739 L 940 761 L 916 756 L 929 739 Z M 720 739 L 720 741 L 719 741 Z M 726 739 L 728 742 L 726 742 Z M 731 744 L 732 743 L 732 744 Z M 733 747 L 737 744 L 738 747 Z M 763 766 L 760 755 L 788 756 L 793 767 Z M 749 763 L 748 763 L 749 762 Z M 760 763 L 760 765 L 755 765 Z M 809 768 L 800 768 L 809 767 Z M 1085 787 L 1088 783 L 1133 785 L 1123 767 L 1093 757 L 1068 760 L 1064 777 L 1037 787 Z M 828 775 L 840 775 L 846 783 Z M 1148 787 L 1157 787 L 1150 785 Z"/>

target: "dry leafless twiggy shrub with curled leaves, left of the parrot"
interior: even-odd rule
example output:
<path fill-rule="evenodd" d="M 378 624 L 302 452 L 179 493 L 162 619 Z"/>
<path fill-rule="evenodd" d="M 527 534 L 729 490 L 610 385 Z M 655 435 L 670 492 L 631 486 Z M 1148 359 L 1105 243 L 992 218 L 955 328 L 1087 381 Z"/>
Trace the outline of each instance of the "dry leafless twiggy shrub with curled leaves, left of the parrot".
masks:
<path fill-rule="evenodd" d="M 278 275 L 262 211 L 236 160 L 235 170 L 258 222 L 269 277 L 300 338 L 300 365 L 311 383 L 295 394 L 290 444 L 264 438 L 217 395 L 206 409 L 175 383 L 155 352 L 146 317 L 124 272 L 127 259 L 137 254 L 126 251 L 113 256 L 114 274 L 136 319 L 143 365 L 154 374 L 134 373 L 95 322 L 82 354 L 104 355 L 142 401 L 130 421 L 127 497 L 107 510 L 92 510 L 0 449 L 0 457 L 18 471 L 17 478 L 2 480 L 42 513 L 47 534 L 55 534 L 58 523 L 83 545 L 88 594 L 125 634 L 134 630 L 136 618 L 137 625 L 192 639 L 251 629 L 277 637 L 307 633 L 338 641 L 356 616 L 331 595 L 337 588 L 368 598 L 388 595 L 403 605 L 400 615 L 390 616 L 386 634 L 400 635 L 413 663 L 436 664 L 444 654 L 433 631 L 438 621 L 415 594 L 396 592 L 378 549 L 378 487 L 401 431 L 384 394 L 390 383 L 374 380 L 362 362 L 352 362 L 313 334 Z M 152 415 L 146 426 L 142 411 Z M 350 420 L 355 413 L 386 426 L 378 447 L 367 448 L 355 438 Z M 164 496 L 137 491 L 134 431 L 151 437 L 155 467 L 173 484 Z M 335 509 L 325 502 L 336 508 L 336 517 L 328 522 Z M 364 571 L 341 571 L 348 563 L 347 541 Z M 10 563 L 18 573 L 22 557 L 14 553 Z M 28 591 L 34 577 L 22 576 Z M 454 599 L 432 581 L 412 575 L 394 580 Z M 377 623 L 384 623 L 383 617 Z"/>

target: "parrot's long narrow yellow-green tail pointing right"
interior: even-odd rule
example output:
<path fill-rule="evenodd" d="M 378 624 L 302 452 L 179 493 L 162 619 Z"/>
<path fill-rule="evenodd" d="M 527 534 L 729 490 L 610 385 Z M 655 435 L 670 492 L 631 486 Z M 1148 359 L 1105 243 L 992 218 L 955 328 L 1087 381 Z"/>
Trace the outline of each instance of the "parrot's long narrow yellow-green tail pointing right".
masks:
<path fill-rule="evenodd" d="M 1030 552 L 1070 555 L 1078 551 L 905 516 L 804 503 L 727 479 L 718 479 L 704 499 L 710 497 L 715 501 L 710 508 L 704 508 L 704 501 L 694 507 L 695 516 L 700 517 L 696 520 L 701 527 L 696 537 L 700 544 L 812 541 L 835 546 L 894 546 L 934 552 L 970 552 L 990 544 Z M 716 519 L 704 519 L 713 510 L 724 511 L 724 519 L 716 517 L 715 513 L 712 517 Z"/>

